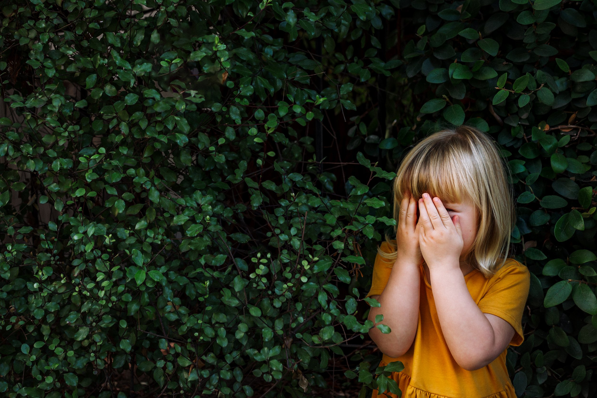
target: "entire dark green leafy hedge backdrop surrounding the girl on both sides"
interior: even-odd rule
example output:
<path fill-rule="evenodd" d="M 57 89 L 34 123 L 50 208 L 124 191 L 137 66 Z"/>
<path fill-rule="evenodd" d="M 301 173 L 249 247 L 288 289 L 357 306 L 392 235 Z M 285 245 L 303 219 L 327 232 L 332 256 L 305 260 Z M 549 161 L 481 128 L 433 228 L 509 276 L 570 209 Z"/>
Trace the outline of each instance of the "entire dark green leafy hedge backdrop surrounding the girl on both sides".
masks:
<path fill-rule="evenodd" d="M 594 394 L 594 7 L 4 2 L 0 392 L 329 388 L 372 326 L 359 297 L 395 224 L 391 170 L 467 123 L 510 161 L 533 273 L 516 391 Z M 324 128 L 347 128 L 338 155 Z M 349 359 L 359 396 L 398 392 L 399 363 Z"/>

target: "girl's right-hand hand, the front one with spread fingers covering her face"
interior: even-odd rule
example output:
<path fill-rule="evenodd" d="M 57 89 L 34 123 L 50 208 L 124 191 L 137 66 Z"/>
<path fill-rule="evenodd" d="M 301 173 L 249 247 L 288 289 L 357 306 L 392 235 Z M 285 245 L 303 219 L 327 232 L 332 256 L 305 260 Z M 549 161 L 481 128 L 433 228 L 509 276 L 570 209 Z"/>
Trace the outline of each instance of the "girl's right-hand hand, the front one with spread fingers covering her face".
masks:
<path fill-rule="evenodd" d="M 435 267 L 460 267 L 460 254 L 464 241 L 458 216 L 450 217 L 439 198 L 431 199 L 428 193 L 418 200 L 420 230 L 418 242 L 421 254 L 432 270 Z"/>

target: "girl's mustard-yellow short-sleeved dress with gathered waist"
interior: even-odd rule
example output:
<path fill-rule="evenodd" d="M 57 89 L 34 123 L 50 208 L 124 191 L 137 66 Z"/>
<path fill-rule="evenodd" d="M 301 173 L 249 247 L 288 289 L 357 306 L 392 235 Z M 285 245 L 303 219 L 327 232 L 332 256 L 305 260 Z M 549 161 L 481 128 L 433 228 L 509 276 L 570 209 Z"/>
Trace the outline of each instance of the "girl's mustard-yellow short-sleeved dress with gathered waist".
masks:
<path fill-rule="evenodd" d="M 381 250 L 390 251 L 383 242 Z M 392 271 L 388 260 L 377 255 L 373 267 L 373 281 L 367 297 L 381 294 Z M 507 348 L 493 362 L 475 371 L 467 371 L 456 363 L 446 344 L 433 301 L 431 285 L 423 266 L 420 266 L 421 290 L 417 334 L 408 351 L 398 358 L 385 354 L 379 366 L 399 360 L 401 372 L 392 378 L 402 391 L 402 398 L 516 398 L 506 368 Z M 530 273 L 524 264 L 509 258 L 494 276 L 486 279 L 481 271 L 473 270 L 464 276 L 466 286 L 482 312 L 506 320 L 515 329 L 510 345 L 524 341 L 522 313 L 528 297 Z M 386 391 L 373 391 L 371 398 L 397 398 Z"/>

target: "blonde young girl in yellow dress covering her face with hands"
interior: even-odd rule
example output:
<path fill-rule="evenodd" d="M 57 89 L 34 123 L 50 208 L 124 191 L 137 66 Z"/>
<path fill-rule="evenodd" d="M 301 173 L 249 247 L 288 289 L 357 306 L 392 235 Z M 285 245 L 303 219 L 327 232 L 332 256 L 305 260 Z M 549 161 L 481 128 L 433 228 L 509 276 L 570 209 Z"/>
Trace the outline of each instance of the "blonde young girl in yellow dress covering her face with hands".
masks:
<path fill-rule="evenodd" d="M 508 258 L 515 223 L 507 166 L 484 133 L 461 126 L 421 140 L 394 184 L 396 240 L 381 243 L 367 297 L 369 334 L 403 398 L 515 398 L 509 345 L 524 341 L 530 273 Z M 373 391 L 372 398 L 396 397 Z"/>

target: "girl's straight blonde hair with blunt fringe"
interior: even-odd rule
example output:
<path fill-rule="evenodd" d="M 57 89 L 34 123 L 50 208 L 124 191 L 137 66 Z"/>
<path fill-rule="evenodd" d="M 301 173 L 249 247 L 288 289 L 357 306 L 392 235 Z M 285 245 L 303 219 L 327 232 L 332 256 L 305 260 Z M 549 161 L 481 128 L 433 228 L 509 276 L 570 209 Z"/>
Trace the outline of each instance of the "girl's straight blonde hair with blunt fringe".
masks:
<path fill-rule="evenodd" d="M 408 152 L 393 181 L 394 218 L 406 192 L 421 198 L 424 192 L 444 202 L 471 202 L 478 212 L 475 241 L 463 260 L 490 277 L 506 262 L 515 209 L 510 169 L 491 138 L 476 128 L 444 129 L 418 142 Z M 385 236 L 392 248 L 381 257 L 396 261 L 396 231 Z M 390 267 L 392 267 L 390 265 Z"/>

